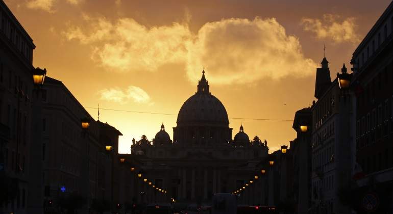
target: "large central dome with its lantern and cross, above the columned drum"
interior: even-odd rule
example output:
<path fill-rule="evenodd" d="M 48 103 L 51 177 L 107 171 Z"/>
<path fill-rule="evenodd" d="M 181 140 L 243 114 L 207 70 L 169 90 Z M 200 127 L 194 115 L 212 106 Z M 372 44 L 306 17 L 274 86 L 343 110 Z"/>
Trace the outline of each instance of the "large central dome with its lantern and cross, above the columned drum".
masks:
<path fill-rule="evenodd" d="M 223 103 L 209 92 L 205 71 L 202 73 L 198 91 L 188 98 L 180 108 L 177 124 L 178 126 L 209 125 L 228 127 L 227 110 L 225 110 Z"/>

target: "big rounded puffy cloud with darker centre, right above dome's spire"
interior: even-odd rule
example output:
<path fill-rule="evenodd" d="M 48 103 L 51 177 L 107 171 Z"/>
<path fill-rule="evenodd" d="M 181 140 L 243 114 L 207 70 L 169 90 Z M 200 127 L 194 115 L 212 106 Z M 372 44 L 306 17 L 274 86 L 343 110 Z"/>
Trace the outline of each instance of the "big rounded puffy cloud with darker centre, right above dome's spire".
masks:
<path fill-rule="evenodd" d="M 299 39 L 289 36 L 275 18 L 224 19 L 209 22 L 188 45 L 187 76 L 198 78 L 208 68 L 219 84 L 247 84 L 288 75 L 307 76 L 317 66 L 304 57 Z"/>

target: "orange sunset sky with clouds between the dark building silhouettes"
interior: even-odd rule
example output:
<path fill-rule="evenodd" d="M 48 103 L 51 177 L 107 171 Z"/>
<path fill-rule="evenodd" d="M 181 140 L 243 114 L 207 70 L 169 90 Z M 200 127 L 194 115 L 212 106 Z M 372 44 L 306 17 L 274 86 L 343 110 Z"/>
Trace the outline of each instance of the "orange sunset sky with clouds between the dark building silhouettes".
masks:
<path fill-rule="evenodd" d="M 314 99 L 326 45 L 331 77 L 390 1 L 6 0 L 35 45 L 33 65 L 59 79 L 100 121 L 132 138 L 169 136 L 205 67 L 230 118 L 292 120 Z M 97 117 L 97 110 L 87 108 Z M 296 137 L 291 121 L 230 119 L 269 152 Z"/>

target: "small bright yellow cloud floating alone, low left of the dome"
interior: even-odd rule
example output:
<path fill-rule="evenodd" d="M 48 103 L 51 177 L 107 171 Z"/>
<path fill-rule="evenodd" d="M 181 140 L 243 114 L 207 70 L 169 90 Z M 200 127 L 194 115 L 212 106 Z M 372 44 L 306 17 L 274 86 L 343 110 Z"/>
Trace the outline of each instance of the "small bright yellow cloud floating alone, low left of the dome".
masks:
<path fill-rule="evenodd" d="M 136 103 L 152 103 L 148 93 L 137 86 L 129 86 L 127 90 L 118 87 L 103 89 L 99 92 L 101 99 L 113 102 L 126 103 L 132 100 Z"/>

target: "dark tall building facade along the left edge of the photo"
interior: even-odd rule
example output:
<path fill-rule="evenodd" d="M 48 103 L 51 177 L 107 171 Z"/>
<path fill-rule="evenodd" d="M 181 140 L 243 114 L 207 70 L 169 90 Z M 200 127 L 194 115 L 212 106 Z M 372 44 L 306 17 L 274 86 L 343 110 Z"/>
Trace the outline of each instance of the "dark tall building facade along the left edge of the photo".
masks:
<path fill-rule="evenodd" d="M 0 211 L 27 213 L 35 45 L 0 1 Z"/>

